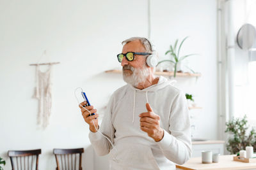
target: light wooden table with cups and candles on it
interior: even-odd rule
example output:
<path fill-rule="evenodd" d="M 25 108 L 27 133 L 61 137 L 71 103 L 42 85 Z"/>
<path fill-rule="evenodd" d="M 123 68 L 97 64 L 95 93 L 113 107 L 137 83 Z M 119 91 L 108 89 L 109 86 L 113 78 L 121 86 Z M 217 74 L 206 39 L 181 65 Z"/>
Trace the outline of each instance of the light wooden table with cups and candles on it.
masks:
<path fill-rule="evenodd" d="M 235 155 L 221 155 L 218 163 L 202 164 L 202 157 L 191 158 L 183 165 L 176 165 L 177 169 L 196 170 L 196 169 L 256 169 L 256 163 L 244 163 L 233 160 Z"/>

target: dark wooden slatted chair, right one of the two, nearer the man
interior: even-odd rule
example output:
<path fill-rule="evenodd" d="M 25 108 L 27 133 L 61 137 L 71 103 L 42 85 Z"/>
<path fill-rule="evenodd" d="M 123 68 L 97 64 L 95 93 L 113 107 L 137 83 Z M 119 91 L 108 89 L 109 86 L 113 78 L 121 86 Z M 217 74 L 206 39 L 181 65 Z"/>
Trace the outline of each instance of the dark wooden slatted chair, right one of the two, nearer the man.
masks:
<path fill-rule="evenodd" d="M 53 149 L 56 158 L 56 170 L 82 170 L 82 153 L 84 148 Z"/>

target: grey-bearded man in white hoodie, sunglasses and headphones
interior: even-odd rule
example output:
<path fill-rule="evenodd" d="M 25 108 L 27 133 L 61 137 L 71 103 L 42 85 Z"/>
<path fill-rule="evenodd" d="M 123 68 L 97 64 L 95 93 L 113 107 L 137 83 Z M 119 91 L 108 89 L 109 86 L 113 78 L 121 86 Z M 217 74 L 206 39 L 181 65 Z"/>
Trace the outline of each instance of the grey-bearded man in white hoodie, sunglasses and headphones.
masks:
<path fill-rule="evenodd" d="M 155 52 L 148 39 L 129 38 L 122 44 L 118 61 L 127 85 L 111 96 L 100 127 L 97 110 L 86 106 L 95 113 L 90 115 L 79 106 L 90 125 L 90 141 L 98 155 L 109 153 L 110 169 L 175 169 L 175 163 L 191 156 L 186 97 L 163 76 L 154 76 L 156 64 L 148 57 Z"/>

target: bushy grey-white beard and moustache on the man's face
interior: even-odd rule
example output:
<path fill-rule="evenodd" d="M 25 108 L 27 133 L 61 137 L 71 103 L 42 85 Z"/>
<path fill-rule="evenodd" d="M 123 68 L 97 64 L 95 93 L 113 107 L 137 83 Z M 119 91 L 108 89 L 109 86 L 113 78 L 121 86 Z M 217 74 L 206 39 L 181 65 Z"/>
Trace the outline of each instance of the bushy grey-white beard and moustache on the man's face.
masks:
<path fill-rule="evenodd" d="M 132 74 L 126 73 L 124 69 L 130 69 L 132 71 Z M 139 83 L 144 83 L 147 80 L 149 74 L 150 72 L 146 65 L 144 65 L 142 68 L 134 68 L 129 65 L 123 67 L 124 81 L 131 84 L 133 87 L 138 87 Z"/>

